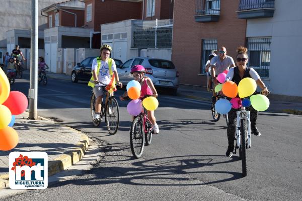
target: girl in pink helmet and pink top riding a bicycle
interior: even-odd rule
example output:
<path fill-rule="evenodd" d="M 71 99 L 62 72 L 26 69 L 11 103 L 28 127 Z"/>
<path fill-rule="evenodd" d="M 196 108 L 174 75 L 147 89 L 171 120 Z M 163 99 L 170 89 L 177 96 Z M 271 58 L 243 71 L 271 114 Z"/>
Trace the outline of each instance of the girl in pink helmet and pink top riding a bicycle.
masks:
<path fill-rule="evenodd" d="M 145 95 L 151 95 L 153 97 L 158 97 L 157 91 L 153 85 L 153 82 L 150 78 L 145 77 L 145 68 L 141 65 L 135 65 L 131 68 L 130 72 L 134 80 L 139 82 L 141 89 L 140 89 L 140 97 L 142 98 Z M 128 95 L 127 91 L 123 94 L 123 96 L 120 97 L 120 100 L 125 100 L 125 97 Z M 158 134 L 160 132 L 159 126 L 156 123 L 156 118 L 154 116 L 154 111 L 148 111 L 147 114 L 149 117 L 150 122 L 152 123 L 152 127 L 155 134 Z"/>

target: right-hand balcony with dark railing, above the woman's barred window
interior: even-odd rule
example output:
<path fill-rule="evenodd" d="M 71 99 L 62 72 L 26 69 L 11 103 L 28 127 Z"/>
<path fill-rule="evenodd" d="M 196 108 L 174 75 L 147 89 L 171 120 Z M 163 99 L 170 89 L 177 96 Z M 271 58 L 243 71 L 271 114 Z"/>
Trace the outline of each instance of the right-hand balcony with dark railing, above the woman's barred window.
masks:
<path fill-rule="evenodd" d="M 240 0 L 238 18 L 271 18 L 274 16 L 275 0 Z"/>

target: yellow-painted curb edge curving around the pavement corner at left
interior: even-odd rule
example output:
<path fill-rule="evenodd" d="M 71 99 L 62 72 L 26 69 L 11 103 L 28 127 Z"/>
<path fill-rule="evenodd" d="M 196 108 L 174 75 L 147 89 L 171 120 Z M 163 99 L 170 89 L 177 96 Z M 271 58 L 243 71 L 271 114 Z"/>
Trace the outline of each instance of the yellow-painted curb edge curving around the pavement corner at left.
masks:
<path fill-rule="evenodd" d="M 38 118 L 43 118 L 38 116 Z M 48 120 L 48 119 L 47 119 Z M 51 120 L 52 121 L 52 120 Z M 62 126 L 61 124 L 59 124 Z M 65 126 L 65 125 L 64 125 Z M 81 133 L 80 141 L 76 144 L 79 148 L 76 148 L 68 153 L 61 154 L 59 157 L 57 157 L 54 160 L 48 161 L 48 176 L 54 175 L 60 171 L 63 171 L 64 169 L 74 165 L 75 163 L 79 162 L 83 159 L 85 153 L 87 152 L 90 142 L 89 137 L 73 128 L 70 128 L 68 126 L 65 126 L 75 132 Z M 3 173 L 0 174 L 0 189 L 2 188 L 8 188 L 9 187 L 9 174 Z"/>

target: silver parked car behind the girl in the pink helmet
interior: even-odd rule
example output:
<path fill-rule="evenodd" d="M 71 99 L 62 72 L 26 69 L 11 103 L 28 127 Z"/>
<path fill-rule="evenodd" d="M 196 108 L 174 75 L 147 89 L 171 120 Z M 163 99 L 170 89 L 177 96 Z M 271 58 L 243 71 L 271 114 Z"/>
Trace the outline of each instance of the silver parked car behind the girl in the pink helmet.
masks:
<path fill-rule="evenodd" d="M 134 57 L 117 68 L 119 80 L 126 85 L 133 80 L 130 74 L 135 65 L 142 65 L 146 69 L 145 75 L 149 77 L 155 87 L 170 88 L 176 95 L 179 86 L 179 73 L 172 61 L 156 58 Z"/>

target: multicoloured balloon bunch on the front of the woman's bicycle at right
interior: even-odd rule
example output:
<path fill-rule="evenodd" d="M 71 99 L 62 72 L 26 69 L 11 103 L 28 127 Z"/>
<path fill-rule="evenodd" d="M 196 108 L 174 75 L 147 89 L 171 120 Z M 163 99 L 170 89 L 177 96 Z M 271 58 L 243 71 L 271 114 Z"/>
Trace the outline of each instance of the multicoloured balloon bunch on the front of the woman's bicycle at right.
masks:
<path fill-rule="evenodd" d="M 253 106 L 255 110 L 265 111 L 269 107 L 269 100 L 262 94 L 252 95 L 257 88 L 255 80 L 252 78 L 244 78 L 239 82 L 228 81 L 224 84 L 218 84 L 215 87 L 215 92 L 221 91 L 226 97 L 232 98 L 230 101 L 227 99 L 219 99 L 215 103 L 215 109 L 220 114 L 228 113 L 231 108 L 238 109 L 241 106 Z M 237 97 L 237 95 L 239 97 Z"/>

